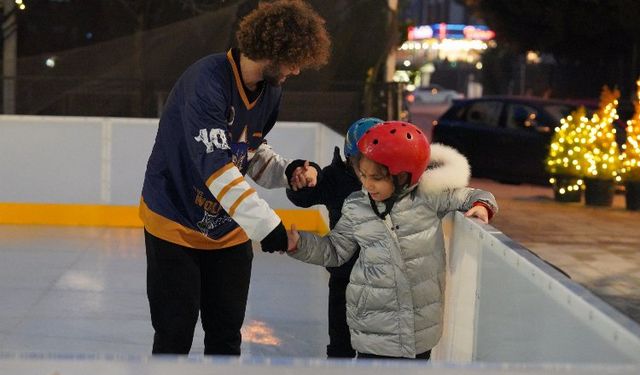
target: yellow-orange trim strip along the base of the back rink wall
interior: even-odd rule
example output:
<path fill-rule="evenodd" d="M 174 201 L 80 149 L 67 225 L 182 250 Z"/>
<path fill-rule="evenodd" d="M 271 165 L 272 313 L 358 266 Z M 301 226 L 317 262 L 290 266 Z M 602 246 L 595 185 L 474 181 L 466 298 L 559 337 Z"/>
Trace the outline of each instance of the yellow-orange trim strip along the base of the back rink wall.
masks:
<path fill-rule="evenodd" d="M 320 211 L 276 209 L 285 227 L 325 234 L 329 231 Z M 0 224 L 142 227 L 138 206 L 49 203 L 0 203 Z"/>

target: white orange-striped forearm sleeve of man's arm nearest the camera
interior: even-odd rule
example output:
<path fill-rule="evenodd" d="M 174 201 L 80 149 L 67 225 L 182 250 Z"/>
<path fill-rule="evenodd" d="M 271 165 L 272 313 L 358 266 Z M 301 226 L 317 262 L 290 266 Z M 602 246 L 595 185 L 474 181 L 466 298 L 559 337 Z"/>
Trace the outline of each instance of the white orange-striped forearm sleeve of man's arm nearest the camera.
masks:
<path fill-rule="evenodd" d="M 233 163 L 217 170 L 206 184 L 250 239 L 261 241 L 280 223 L 280 217 L 258 196 Z"/>

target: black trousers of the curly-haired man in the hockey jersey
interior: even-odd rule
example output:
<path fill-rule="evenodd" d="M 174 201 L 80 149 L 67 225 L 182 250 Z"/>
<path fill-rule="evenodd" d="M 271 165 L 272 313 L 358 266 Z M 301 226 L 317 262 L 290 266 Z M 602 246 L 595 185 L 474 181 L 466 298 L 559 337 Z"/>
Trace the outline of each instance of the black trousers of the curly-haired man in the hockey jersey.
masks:
<path fill-rule="evenodd" d="M 204 354 L 240 355 L 251 277 L 251 242 L 197 250 L 145 230 L 153 354 L 188 354 L 202 316 Z"/>

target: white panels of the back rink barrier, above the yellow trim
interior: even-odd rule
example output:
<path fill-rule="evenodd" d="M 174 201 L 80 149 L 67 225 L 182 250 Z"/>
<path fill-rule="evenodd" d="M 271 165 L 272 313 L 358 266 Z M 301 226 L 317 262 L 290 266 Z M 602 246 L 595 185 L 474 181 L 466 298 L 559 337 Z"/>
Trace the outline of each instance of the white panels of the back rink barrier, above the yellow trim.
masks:
<path fill-rule="evenodd" d="M 0 115 L 0 202 L 137 206 L 157 129 L 158 119 Z M 321 166 L 344 142 L 310 122 L 278 122 L 267 140 Z M 274 208 L 294 208 L 281 189 L 257 191 Z"/>

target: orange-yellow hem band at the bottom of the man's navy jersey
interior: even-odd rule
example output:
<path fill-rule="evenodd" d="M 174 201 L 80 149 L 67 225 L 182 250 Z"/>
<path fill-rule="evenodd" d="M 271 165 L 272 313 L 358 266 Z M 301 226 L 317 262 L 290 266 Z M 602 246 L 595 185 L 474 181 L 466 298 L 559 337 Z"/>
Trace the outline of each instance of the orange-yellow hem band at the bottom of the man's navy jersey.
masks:
<path fill-rule="evenodd" d="M 153 212 L 147 207 L 143 199 L 140 200 L 140 218 L 144 223 L 145 229 L 154 236 L 194 249 L 217 250 L 249 241 L 249 237 L 240 227 L 214 240 L 196 230 L 187 228 Z"/>

